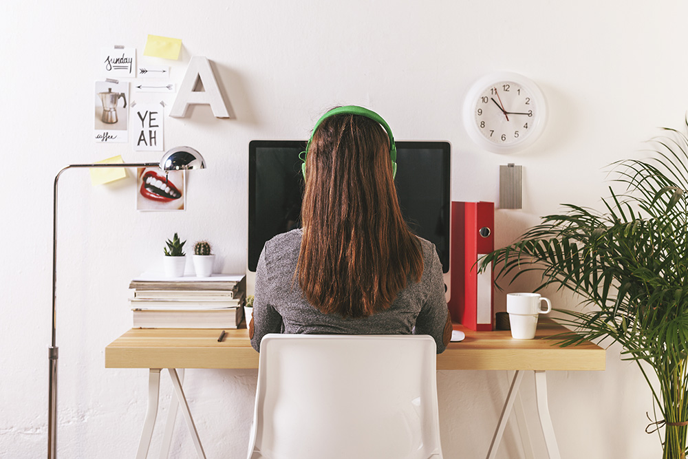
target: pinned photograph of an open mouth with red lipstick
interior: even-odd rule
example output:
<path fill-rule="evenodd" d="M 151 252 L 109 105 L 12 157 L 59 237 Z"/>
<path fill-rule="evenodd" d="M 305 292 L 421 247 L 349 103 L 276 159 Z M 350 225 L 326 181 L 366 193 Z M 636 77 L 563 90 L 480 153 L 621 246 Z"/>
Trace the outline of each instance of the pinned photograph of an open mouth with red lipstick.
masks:
<path fill-rule="evenodd" d="M 186 206 L 184 171 L 164 173 L 140 167 L 136 173 L 136 210 L 183 211 Z"/>

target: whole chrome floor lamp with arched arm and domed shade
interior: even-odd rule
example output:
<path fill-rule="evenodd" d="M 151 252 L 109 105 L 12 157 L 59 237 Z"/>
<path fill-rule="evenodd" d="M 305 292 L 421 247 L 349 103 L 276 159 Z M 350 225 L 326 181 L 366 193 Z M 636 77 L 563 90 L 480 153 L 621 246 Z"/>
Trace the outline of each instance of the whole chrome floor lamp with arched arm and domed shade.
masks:
<path fill-rule="evenodd" d="M 169 171 L 186 171 L 186 169 L 204 169 L 206 163 L 198 151 L 191 147 L 176 147 L 167 151 L 160 162 L 136 162 L 136 163 L 96 163 L 96 164 L 70 164 L 64 167 L 55 176 L 53 188 L 53 213 L 52 213 L 52 343 L 48 348 L 48 362 L 50 363 L 50 390 L 48 392 L 48 414 L 47 414 L 47 457 L 48 459 L 57 458 L 57 345 L 56 335 L 56 272 L 57 272 L 57 183 L 60 175 L 67 169 L 85 168 L 92 169 L 98 167 L 155 167 L 168 173 Z"/>

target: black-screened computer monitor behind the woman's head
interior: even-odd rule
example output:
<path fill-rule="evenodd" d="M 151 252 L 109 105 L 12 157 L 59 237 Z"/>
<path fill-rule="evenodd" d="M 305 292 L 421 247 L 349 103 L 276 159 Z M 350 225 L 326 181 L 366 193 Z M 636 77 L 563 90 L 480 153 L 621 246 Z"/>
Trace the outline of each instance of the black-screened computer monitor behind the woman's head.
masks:
<path fill-rule="evenodd" d="M 299 153 L 304 149 L 302 140 L 252 140 L 248 145 L 249 295 L 264 244 L 301 226 Z M 449 288 L 451 147 L 449 142 L 396 142 L 396 151 L 394 182 L 402 214 L 413 233 L 435 244 Z"/>

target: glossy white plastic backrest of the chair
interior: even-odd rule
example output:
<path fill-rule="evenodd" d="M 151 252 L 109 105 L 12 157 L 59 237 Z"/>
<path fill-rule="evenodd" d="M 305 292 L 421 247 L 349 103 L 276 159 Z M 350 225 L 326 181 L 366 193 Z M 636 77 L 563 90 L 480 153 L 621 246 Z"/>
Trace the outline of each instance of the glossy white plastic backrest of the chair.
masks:
<path fill-rule="evenodd" d="M 442 458 L 436 350 L 429 336 L 266 335 L 248 458 Z"/>

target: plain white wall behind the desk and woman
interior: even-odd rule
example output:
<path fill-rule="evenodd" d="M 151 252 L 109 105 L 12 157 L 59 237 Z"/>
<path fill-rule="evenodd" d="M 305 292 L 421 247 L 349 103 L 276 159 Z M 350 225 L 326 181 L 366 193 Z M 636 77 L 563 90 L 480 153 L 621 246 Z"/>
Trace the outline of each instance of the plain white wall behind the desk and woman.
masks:
<path fill-rule="evenodd" d="M 190 56 L 215 62 L 236 114 L 208 107 L 166 118 L 166 147 L 191 145 L 208 169 L 191 174 L 184 213 L 137 213 L 130 178 L 92 187 L 85 171 L 61 180 L 58 263 L 59 430 L 63 458 L 133 457 L 147 372 L 106 370 L 103 348 L 131 325 L 127 285 L 159 263 L 163 241 L 208 238 L 225 272 L 246 264 L 248 142 L 305 138 L 327 107 L 378 111 L 399 140 L 449 140 L 454 200 L 496 200 L 500 164 L 524 166 L 524 209 L 498 211 L 497 244 L 559 209 L 599 206 L 606 164 L 641 156 L 656 127 L 687 110 L 685 18 L 680 1 L 25 1 L 0 14 L 0 458 L 36 458 L 47 444 L 52 180 L 66 164 L 121 154 L 91 140 L 100 47 L 138 48 L 147 34 L 183 39 L 173 80 Z M 544 90 L 543 137 L 512 156 L 481 151 L 462 127 L 464 94 L 508 70 Z M 133 97 L 133 96 L 132 96 Z M 532 288 L 527 281 L 511 290 Z M 503 294 L 502 294 L 503 295 Z M 574 306 L 552 293 L 557 306 Z M 504 297 L 497 307 L 504 309 Z M 242 458 L 256 373 L 189 370 L 187 394 L 208 458 Z M 162 392 L 169 400 L 169 378 Z M 550 409 L 563 458 L 660 454 L 643 429 L 651 396 L 640 372 L 608 350 L 605 372 L 552 372 Z M 502 372 L 440 372 L 446 457 L 486 454 L 508 389 Z M 530 420 L 533 382 L 524 382 Z M 164 404 L 163 404 L 164 405 Z M 164 408 L 164 406 L 163 406 Z M 162 409 L 159 419 L 164 419 Z M 532 425 L 537 451 L 543 441 Z M 157 451 L 162 432 L 155 432 Z M 194 457 L 178 421 L 173 458 Z M 509 427 L 499 458 L 519 458 Z M 157 454 L 157 453 L 155 453 Z"/>

